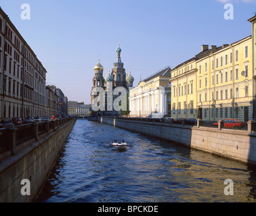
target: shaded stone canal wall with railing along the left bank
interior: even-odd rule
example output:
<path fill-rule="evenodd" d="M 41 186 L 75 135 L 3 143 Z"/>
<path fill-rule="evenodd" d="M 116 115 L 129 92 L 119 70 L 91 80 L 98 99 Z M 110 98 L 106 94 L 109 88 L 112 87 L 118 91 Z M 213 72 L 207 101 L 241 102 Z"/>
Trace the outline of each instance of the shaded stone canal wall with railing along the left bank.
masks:
<path fill-rule="evenodd" d="M 0 202 L 33 202 L 56 163 L 76 119 L 28 140 L 0 163 Z M 25 182 L 22 182 L 25 180 Z"/>

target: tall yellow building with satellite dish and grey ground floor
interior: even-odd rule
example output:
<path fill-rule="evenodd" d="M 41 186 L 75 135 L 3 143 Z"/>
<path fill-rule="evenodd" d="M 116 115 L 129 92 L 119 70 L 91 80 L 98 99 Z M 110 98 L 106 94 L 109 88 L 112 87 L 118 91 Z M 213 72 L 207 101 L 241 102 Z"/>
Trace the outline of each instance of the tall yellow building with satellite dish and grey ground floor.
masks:
<path fill-rule="evenodd" d="M 212 47 L 196 61 L 198 118 L 215 121 L 253 115 L 251 36 L 231 45 Z"/>

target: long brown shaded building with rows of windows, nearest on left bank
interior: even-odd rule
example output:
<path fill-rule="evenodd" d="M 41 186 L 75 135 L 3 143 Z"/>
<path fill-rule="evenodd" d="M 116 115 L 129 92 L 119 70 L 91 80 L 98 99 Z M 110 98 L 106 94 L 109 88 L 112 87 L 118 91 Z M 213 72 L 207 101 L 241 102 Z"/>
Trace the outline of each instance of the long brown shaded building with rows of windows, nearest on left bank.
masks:
<path fill-rule="evenodd" d="M 0 119 L 45 115 L 47 71 L 0 7 Z"/>

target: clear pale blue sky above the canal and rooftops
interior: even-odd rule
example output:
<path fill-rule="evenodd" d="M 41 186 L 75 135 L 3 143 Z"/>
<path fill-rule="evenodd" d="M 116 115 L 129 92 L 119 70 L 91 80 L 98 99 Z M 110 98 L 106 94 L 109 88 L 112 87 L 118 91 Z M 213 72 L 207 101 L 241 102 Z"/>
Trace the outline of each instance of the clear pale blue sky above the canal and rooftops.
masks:
<path fill-rule="evenodd" d="M 22 20 L 22 3 L 30 20 Z M 225 3 L 234 20 L 225 20 Z M 113 68 L 118 42 L 133 86 L 170 65 L 251 35 L 255 0 L 1 0 L 0 6 L 47 70 L 47 84 L 69 101 L 90 103 L 93 67 Z"/>

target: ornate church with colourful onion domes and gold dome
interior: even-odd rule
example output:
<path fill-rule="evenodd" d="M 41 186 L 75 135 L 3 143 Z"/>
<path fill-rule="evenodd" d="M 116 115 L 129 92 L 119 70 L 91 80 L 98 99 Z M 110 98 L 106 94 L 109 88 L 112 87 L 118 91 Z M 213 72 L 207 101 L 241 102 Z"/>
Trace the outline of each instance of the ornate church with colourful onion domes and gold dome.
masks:
<path fill-rule="evenodd" d="M 100 64 L 100 59 L 98 60 L 98 64 L 94 67 L 93 86 L 91 88 L 91 107 L 94 113 L 95 109 L 98 109 L 98 111 L 96 111 L 97 115 L 119 115 L 120 111 L 114 109 L 114 101 L 119 97 L 120 90 L 121 94 L 128 94 L 129 88 L 133 87 L 134 78 L 131 76 L 131 71 L 129 75 L 125 72 L 124 63 L 121 61 L 121 51 L 120 47 L 116 49 L 114 68 L 112 68 L 111 73 L 108 70 L 106 78 L 104 78 L 104 67 Z M 102 92 L 100 94 L 99 90 L 104 90 L 104 94 L 102 94 Z"/>

